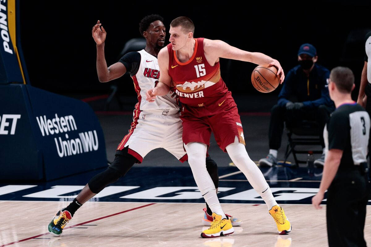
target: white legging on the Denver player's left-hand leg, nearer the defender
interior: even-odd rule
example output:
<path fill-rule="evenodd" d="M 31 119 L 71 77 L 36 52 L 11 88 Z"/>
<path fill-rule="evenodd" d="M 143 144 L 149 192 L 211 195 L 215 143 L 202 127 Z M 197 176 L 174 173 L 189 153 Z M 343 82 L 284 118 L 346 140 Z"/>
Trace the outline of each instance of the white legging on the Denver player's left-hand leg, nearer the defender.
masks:
<path fill-rule="evenodd" d="M 201 195 L 213 213 L 221 215 L 222 219 L 226 218 L 216 195 L 213 180 L 211 180 L 206 169 L 206 144 L 191 142 L 184 145 L 184 147 L 188 154 L 188 163 L 191 167 L 194 180 L 201 191 Z"/>

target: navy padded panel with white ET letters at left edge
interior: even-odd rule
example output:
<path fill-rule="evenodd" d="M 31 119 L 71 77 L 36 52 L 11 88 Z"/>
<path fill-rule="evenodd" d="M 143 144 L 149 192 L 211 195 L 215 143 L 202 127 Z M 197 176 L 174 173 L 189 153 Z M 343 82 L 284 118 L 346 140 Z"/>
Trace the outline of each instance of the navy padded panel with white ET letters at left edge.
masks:
<path fill-rule="evenodd" d="M 40 180 L 42 153 L 38 151 L 33 114 L 26 87 L 0 85 L 0 180 Z"/>

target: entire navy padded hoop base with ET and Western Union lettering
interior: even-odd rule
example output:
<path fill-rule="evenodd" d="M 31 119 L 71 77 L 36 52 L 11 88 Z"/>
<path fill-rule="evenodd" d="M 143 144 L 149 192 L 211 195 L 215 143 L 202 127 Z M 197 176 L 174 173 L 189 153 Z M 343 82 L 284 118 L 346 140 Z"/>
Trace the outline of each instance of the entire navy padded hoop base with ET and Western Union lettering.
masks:
<path fill-rule="evenodd" d="M 88 104 L 0 85 L 0 180 L 49 181 L 106 165 L 103 131 Z"/>

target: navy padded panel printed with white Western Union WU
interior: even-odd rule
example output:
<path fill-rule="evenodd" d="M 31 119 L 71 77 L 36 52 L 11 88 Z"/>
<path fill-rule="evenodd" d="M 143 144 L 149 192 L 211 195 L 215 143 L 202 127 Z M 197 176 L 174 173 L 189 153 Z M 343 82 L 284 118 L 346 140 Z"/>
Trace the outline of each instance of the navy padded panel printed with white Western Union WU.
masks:
<path fill-rule="evenodd" d="M 107 165 L 103 131 L 88 104 L 25 87 L 34 116 L 31 125 L 43 150 L 46 180 Z"/>

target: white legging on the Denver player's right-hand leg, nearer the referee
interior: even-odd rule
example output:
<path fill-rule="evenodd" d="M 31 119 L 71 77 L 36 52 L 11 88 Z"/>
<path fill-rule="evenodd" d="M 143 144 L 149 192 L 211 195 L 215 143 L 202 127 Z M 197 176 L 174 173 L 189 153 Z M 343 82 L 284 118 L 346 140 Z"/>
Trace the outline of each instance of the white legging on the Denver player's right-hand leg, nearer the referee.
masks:
<path fill-rule="evenodd" d="M 236 140 L 237 141 L 226 147 L 229 157 L 237 168 L 246 176 L 255 191 L 260 194 L 267 204 L 268 209 L 271 209 L 273 206 L 277 205 L 277 202 L 273 197 L 272 191 L 270 191 L 267 181 L 265 181 L 262 171 L 260 171 L 254 161 L 250 159 L 245 146 L 239 143 L 238 139 Z"/>

